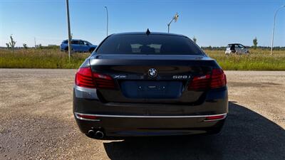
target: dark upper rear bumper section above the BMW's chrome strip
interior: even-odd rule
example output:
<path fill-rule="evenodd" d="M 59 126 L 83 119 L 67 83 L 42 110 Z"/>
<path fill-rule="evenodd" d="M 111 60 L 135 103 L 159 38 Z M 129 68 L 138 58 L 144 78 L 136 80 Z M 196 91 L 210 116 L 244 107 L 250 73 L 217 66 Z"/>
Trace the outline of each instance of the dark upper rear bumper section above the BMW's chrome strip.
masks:
<path fill-rule="evenodd" d="M 73 111 L 88 114 L 122 115 L 210 115 L 228 112 L 227 88 L 212 90 L 207 93 L 202 104 L 192 103 L 123 103 L 102 102 L 99 99 L 76 97 L 73 92 Z"/>

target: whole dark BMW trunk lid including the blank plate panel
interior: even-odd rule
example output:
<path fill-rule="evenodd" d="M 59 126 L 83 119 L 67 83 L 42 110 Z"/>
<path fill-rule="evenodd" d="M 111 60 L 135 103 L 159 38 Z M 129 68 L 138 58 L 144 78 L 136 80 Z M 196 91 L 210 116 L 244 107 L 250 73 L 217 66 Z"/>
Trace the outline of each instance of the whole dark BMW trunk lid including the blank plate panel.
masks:
<path fill-rule="evenodd" d="M 104 102 L 197 102 L 206 91 L 187 90 L 194 76 L 217 63 L 199 55 L 95 55 L 90 67 L 110 75 L 116 89 L 97 90 Z M 151 71 L 155 70 L 155 75 Z"/>

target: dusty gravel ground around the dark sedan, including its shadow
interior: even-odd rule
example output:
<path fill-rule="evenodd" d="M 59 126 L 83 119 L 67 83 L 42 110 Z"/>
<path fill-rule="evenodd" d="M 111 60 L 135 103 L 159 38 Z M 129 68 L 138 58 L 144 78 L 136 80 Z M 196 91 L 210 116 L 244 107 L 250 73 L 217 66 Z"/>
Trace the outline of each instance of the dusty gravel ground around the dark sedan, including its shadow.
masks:
<path fill-rule="evenodd" d="M 116 141 L 79 132 L 75 73 L 0 69 L 0 159 L 285 159 L 285 72 L 227 71 L 222 134 Z"/>

